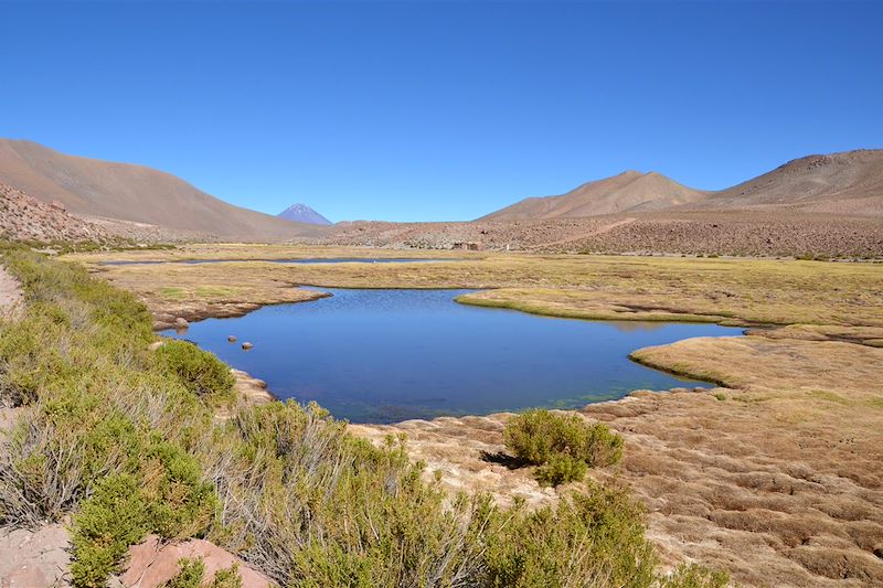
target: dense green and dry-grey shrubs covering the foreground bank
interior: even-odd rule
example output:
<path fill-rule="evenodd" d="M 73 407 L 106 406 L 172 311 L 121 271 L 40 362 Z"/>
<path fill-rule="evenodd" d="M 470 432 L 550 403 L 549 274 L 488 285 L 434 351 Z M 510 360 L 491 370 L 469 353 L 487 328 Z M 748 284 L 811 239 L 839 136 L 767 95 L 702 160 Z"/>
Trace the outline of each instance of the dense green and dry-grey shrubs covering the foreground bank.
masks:
<path fill-rule="evenodd" d="M 0 325 L 0 524 L 73 515 L 73 579 L 103 586 L 129 545 L 205 537 L 284 586 L 717 586 L 655 571 L 640 507 L 588 484 L 555 507 L 446 500 L 404 441 L 374 447 L 318 406 L 247 406 L 187 343 L 149 351 L 147 309 L 20 248 L 28 306 Z M 214 418 L 219 407 L 230 419 Z"/>

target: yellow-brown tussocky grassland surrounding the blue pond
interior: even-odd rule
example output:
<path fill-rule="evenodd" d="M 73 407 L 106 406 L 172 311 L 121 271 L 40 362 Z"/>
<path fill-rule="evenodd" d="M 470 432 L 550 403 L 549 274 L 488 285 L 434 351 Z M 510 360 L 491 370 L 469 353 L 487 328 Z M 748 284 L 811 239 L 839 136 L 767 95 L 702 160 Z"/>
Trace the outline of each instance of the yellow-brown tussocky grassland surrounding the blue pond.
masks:
<path fill-rule="evenodd" d="M 273 259 L 448 256 L 442 264 L 283 265 Z M 709 321 L 745 336 L 635 350 L 659 370 L 714 382 L 692 392 L 635 391 L 579 410 L 626 440 L 624 461 L 593 472 L 634 489 L 669 565 L 696 560 L 745 585 L 863 586 L 881 577 L 883 541 L 883 271 L 874 263 L 786 259 L 402 252 L 195 245 L 73 254 L 136 292 L 158 328 L 236 316 L 327 288 L 476 288 L 458 299 L 584 320 Z M 185 260 L 225 260 L 191 265 Z M 262 259 L 243 261 L 242 259 Z M 129 261 L 126 265 L 113 265 Z M 138 264 L 138 261 L 162 261 Z M 260 342 L 249 353 L 260 353 Z M 504 451 L 506 414 L 393 426 L 353 425 L 382 440 L 404 432 L 427 475 L 450 491 L 555 501 Z M 849 431 L 849 432 L 847 432 Z M 482 457 L 485 456 L 485 457 Z M 763 570 L 758 573 L 758 570 Z"/>

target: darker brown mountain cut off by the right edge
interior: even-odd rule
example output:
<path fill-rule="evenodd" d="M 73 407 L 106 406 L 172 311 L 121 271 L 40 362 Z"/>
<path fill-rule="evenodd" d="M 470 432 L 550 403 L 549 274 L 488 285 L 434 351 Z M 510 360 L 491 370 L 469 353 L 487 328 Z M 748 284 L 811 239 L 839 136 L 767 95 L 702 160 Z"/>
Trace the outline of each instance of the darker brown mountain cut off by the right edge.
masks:
<path fill-rule="evenodd" d="M 883 149 L 795 159 L 688 207 L 883 216 Z"/>

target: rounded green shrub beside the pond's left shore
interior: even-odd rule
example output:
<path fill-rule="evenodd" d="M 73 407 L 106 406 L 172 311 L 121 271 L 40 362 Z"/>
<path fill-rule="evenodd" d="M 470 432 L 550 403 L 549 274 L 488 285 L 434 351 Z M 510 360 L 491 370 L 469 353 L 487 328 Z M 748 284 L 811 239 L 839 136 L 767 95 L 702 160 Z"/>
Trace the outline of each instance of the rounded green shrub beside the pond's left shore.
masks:
<path fill-rule="evenodd" d="M 235 379 L 230 366 L 213 353 L 187 341 L 166 341 L 156 356 L 160 368 L 193 394 L 214 400 L 232 398 Z"/>

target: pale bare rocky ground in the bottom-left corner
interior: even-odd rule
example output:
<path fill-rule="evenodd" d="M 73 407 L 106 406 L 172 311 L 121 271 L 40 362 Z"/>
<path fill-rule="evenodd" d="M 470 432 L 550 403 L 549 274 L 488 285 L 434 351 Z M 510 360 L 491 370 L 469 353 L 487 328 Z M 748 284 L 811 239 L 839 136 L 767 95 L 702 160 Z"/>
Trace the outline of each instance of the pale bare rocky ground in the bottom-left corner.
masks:
<path fill-rule="evenodd" d="M 63 525 L 45 525 L 33 531 L 0 531 L 0 586 L 70 586 L 70 535 Z"/>

